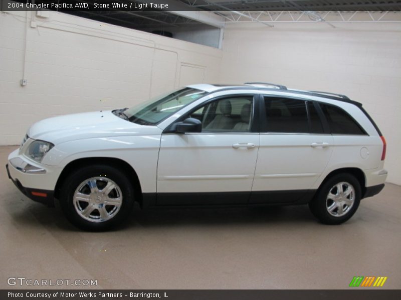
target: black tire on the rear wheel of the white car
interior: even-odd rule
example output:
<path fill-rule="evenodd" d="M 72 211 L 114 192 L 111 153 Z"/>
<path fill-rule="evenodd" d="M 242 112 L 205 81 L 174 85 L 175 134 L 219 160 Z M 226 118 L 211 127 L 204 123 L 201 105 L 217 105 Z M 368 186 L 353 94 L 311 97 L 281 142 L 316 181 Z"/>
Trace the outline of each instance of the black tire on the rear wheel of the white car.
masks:
<path fill-rule="evenodd" d="M 340 184 L 341 182 L 343 184 Z M 340 184 L 340 188 L 336 187 L 337 184 Z M 351 194 L 348 196 L 345 194 L 342 194 L 342 196 L 339 195 L 336 200 L 328 197 L 329 193 L 330 197 L 333 197 L 334 193 L 338 192 L 338 189 L 343 190 L 348 186 L 353 188 L 351 192 L 353 199 L 352 205 L 347 204 L 351 203 Z M 347 189 L 345 191 L 347 191 Z M 309 208 L 313 215 L 322 223 L 330 225 L 341 224 L 355 213 L 359 206 L 360 199 L 361 186 L 359 181 L 352 174 L 340 173 L 333 175 L 320 186 L 312 201 L 309 202 Z M 342 207 L 342 210 L 340 210 L 339 206 Z M 333 207 L 334 209 L 332 209 Z M 331 210 L 331 212 L 329 212 L 329 210 Z"/>

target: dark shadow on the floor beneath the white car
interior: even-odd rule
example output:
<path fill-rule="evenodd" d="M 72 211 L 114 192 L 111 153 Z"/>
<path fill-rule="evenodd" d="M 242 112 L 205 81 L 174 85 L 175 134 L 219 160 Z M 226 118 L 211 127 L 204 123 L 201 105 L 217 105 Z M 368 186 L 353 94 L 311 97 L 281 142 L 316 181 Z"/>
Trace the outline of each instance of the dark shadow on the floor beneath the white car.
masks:
<path fill-rule="evenodd" d="M 61 230 L 79 231 L 63 215 L 60 205 L 47 207 L 32 202 L 23 195 L 18 199 L 5 201 L 6 210 L 14 222 L 22 226 L 36 225 Z M 18 203 L 18 205 L 16 205 Z M 149 208 L 142 210 L 135 206 L 128 219 L 111 230 L 132 230 L 141 227 L 175 226 L 227 226 L 235 224 L 316 222 L 307 205 L 297 206 L 253 206 L 253 207 L 193 207 L 193 208 Z"/>

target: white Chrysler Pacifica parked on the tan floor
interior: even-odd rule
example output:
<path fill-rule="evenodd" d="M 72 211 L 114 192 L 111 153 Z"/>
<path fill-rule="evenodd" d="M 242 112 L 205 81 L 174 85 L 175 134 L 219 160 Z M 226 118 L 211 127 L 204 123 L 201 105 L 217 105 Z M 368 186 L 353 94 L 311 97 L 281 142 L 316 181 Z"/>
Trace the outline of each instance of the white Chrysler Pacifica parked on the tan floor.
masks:
<path fill-rule="evenodd" d="M 132 108 L 33 124 L 7 170 L 89 230 L 141 207 L 306 204 L 349 219 L 384 186 L 386 142 L 358 102 L 283 85 L 196 84 Z"/>

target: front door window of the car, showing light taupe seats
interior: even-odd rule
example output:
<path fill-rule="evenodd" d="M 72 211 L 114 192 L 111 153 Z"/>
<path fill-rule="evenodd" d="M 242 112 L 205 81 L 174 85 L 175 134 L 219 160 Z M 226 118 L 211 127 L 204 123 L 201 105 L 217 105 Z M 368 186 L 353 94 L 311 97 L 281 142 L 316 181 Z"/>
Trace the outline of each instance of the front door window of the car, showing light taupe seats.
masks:
<path fill-rule="evenodd" d="M 202 121 L 202 132 L 250 131 L 253 96 L 222 98 L 190 114 Z"/>

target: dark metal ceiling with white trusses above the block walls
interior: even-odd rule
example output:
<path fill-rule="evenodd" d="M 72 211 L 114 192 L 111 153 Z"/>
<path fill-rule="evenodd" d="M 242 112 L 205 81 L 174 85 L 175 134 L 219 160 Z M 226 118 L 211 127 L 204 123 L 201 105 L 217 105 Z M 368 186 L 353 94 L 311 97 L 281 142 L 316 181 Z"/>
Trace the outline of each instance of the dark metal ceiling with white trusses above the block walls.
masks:
<path fill-rule="evenodd" d="M 19 1 L 19 0 L 17 0 Z M 20 0 L 25 2 L 26 0 Z M 93 3 L 96 0 L 86 1 Z M 113 2 L 102 0 L 102 2 Z M 107 8 L 59 11 L 132 29 L 157 34 L 179 30 L 216 30 L 228 23 L 397 21 L 401 22 L 401 0 L 122 0 L 168 3 L 174 11 L 118 10 Z M 170 5 L 171 4 L 171 5 Z M 175 5 L 175 6 L 174 6 Z M 209 22 L 208 22 L 209 20 Z M 174 33 L 175 34 L 175 33 Z M 193 33 L 195 34 L 195 33 Z M 174 36 L 175 37 L 175 36 Z"/>

